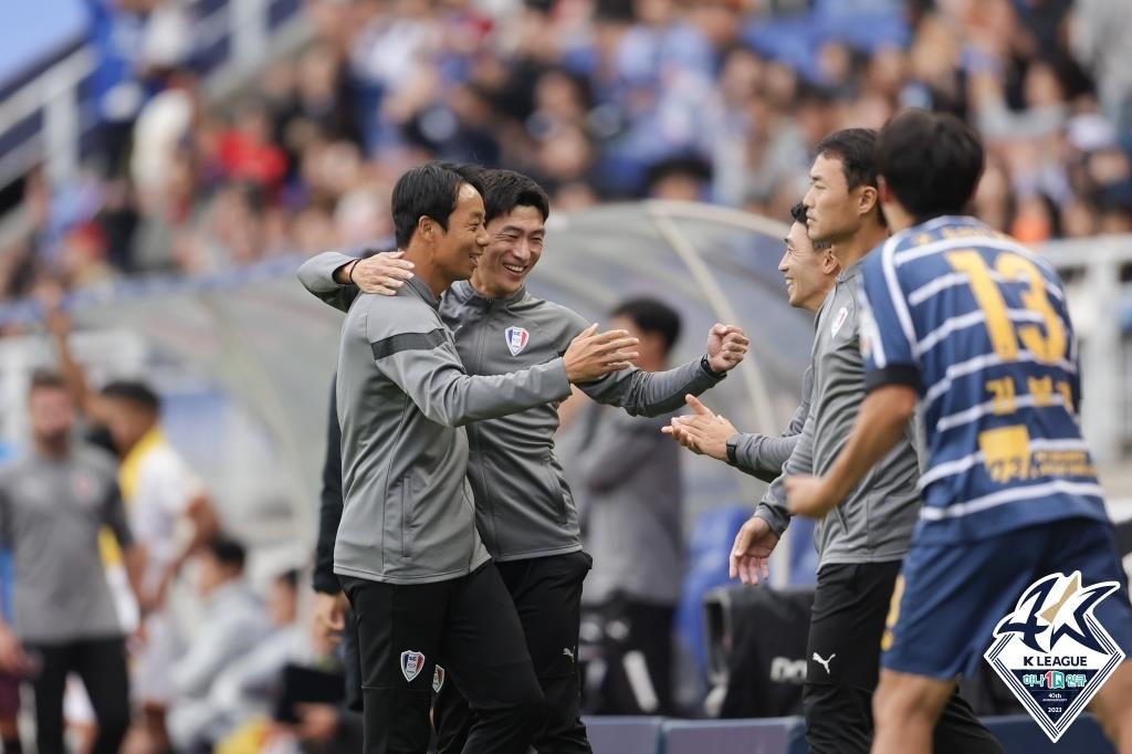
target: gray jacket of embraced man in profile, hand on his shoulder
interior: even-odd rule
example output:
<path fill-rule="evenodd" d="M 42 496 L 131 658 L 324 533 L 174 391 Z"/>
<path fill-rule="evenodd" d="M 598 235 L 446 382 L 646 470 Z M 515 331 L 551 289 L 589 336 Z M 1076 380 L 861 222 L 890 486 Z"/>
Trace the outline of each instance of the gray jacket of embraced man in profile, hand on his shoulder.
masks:
<path fill-rule="evenodd" d="M 334 572 L 391 584 L 456 579 L 488 559 L 462 425 L 569 395 L 560 358 L 471 377 L 419 279 L 359 295 L 342 326 L 342 522 Z"/>

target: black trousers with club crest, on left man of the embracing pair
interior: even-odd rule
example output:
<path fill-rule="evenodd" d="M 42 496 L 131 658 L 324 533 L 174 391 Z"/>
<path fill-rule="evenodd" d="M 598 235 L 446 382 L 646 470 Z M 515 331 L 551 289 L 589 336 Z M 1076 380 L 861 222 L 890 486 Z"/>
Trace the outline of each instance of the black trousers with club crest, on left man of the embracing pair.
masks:
<path fill-rule="evenodd" d="M 543 696 L 495 565 L 430 584 L 341 581 L 358 625 L 366 754 L 424 754 L 438 661 L 475 713 L 463 751 L 526 753 Z"/>

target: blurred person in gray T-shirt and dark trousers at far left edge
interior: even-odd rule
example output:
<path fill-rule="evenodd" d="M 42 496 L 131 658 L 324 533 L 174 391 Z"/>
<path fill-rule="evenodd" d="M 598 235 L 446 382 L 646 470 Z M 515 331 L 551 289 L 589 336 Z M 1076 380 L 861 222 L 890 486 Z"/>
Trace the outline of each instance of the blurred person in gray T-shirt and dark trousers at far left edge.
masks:
<path fill-rule="evenodd" d="M 71 437 L 75 408 L 61 377 L 33 377 L 28 412 L 33 448 L 0 473 L 0 538 L 16 573 L 15 624 L 0 625 L 0 665 L 32 680 L 38 752 L 66 751 L 63 689 L 76 672 L 97 720 L 93 752 L 117 754 L 130 723 L 129 676 L 98 531 L 113 532 L 137 596 L 145 552 L 130 532 L 113 460 Z"/>

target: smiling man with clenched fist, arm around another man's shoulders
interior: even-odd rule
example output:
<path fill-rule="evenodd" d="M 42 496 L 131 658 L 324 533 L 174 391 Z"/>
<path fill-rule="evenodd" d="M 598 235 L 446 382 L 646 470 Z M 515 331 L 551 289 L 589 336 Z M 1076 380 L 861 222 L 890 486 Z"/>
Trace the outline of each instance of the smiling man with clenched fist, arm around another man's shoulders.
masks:
<path fill-rule="evenodd" d="M 546 194 L 512 171 L 484 171 L 484 182 L 490 243 L 471 281 L 458 282 L 444 294 L 439 312 L 453 329 L 468 372 L 499 375 L 557 359 L 588 323 L 565 307 L 531 295 L 524 286 L 542 252 L 549 214 Z M 386 255 L 358 262 L 335 252 L 319 255 L 300 269 L 308 290 L 338 308 L 349 307 L 357 294 L 357 286 L 348 284 L 351 275 L 362 290 L 388 292 L 403 289 L 403 280 L 394 277 L 410 274 L 408 265 Z M 612 372 L 578 388 L 633 414 L 663 413 L 680 405 L 685 394 L 717 384 L 746 349 L 740 331 L 717 325 L 702 359 L 664 372 Z M 469 425 L 468 473 L 480 534 L 515 601 L 548 702 L 547 725 L 535 745 L 589 752 L 573 658 L 590 559 L 581 551 L 577 512 L 554 452 L 560 397 Z M 440 676 L 437 680 L 439 747 L 458 751 L 472 718 Z"/>

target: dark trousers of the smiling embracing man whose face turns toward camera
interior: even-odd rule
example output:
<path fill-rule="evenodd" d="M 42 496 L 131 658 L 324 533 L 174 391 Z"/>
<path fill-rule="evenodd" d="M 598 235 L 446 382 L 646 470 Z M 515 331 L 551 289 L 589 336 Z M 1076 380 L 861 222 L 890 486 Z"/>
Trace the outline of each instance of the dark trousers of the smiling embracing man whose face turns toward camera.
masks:
<path fill-rule="evenodd" d="M 496 564 L 515 602 L 526 650 L 547 700 L 546 722 L 534 738 L 540 754 L 593 751 L 582 722 L 575 663 L 582 582 L 591 565 L 593 560 L 582 551 Z M 432 710 L 437 752 L 460 752 L 474 718 L 460 692 L 451 683 L 440 684 Z"/>

